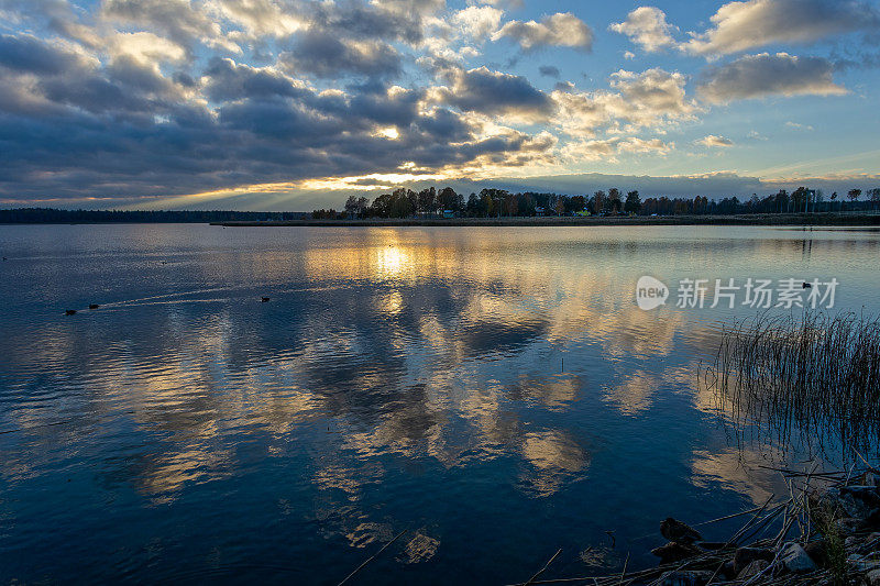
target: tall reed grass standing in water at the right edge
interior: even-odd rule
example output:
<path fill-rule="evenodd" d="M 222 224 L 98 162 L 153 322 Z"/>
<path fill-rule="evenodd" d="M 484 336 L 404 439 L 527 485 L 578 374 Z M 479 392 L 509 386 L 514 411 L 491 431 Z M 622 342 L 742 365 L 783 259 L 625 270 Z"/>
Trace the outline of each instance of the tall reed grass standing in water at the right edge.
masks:
<path fill-rule="evenodd" d="M 717 408 L 745 430 L 824 450 L 878 452 L 880 319 L 856 313 L 761 314 L 722 332 L 703 373 Z"/>

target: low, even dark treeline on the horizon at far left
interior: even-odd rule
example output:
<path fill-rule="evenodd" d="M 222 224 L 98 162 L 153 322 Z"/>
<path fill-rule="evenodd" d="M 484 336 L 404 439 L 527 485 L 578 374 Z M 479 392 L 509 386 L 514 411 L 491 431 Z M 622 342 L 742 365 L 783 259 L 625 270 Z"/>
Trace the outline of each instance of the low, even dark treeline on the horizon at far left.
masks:
<path fill-rule="evenodd" d="M 0 210 L 0 223 L 4 224 L 277 222 L 308 217 L 308 213 L 302 212 L 262 211 L 121 211 L 52 208 Z"/>

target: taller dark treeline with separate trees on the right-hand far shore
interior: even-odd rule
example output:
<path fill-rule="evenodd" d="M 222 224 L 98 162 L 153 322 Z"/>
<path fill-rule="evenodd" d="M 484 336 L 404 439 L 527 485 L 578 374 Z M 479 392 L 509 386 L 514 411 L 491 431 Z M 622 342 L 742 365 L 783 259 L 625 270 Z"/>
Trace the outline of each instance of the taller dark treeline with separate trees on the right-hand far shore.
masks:
<path fill-rule="evenodd" d="M 592 196 L 568 196 L 527 191 L 512 194 L 503 189 L 483 189 L 463 194 L 444 187 L 413 191 L 399 188 L 392 194 L 378 196 L 372 202 L 366 197 L 351 196 L 342 211 L 315 210 L 314 219 L 342 218 L 411 218 L 419 215 L 455 215 L 459 218 L 532 217 L 532 215 L 679 215 L 679 214 L 739 214 L 739 213 L 793 213 L 828 211 L 865 211 L 880 203 L 880 188 L 869 189 L 868 201 L 859 201 L 860 189 L 851 189 L 844 197 L 835 191 L 825 196 L 821 189 L 800 187 L 791 194 L 782 189 L 766 197 L 752 195 L 750 199 L 736 197 L 710 200 L 703 196 L 693 198 L 648 197 L 642 199 L 637 191 L 624 194 L 613 188 L 607 192 L 595 191 Z M 845 202 L 844 199 L 848 201 Z"/>

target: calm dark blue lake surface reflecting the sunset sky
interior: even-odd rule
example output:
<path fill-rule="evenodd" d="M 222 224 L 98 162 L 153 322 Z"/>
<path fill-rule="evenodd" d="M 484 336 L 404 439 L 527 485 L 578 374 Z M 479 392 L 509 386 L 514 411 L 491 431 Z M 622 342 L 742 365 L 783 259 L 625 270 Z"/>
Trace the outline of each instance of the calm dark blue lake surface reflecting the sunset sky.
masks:
<path fill-rule="evenodd" d="M 735 445 L 698 384 L 757 310 L 675 284 L 837 278 L 835 310 L 880 311 L 861 230 L 0 226 L 0 251 L 2 583 L 337 584 L 404 530 L 353 584 L 653 564 L 661 519 L 760 505 L 784 487 L 759 466 L 803 456 Z"/>

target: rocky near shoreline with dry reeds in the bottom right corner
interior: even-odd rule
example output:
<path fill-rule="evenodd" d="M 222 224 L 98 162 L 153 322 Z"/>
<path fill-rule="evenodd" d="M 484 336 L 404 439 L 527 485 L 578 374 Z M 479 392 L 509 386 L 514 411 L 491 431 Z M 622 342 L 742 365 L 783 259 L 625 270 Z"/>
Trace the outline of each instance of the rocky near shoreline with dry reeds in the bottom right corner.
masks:
<path fill-rule="evenodd" d="M 723 541 L 705 541 L 669 517 L 659 531 L 667 543 L 651 550 L 657 566 L 628 571 L 625 564 L 609 575 L 538 579 L 554 555 L 531 579 L 510 586 L 880 585 L 880 471 L 867 462 L 858 471 L 855 464 L 836 472 L 817 472 L 815 465 L 770 469 L 782 474 L 790 498 L 773 502 L 771 495 L 762 506 L 694 526 Z M 729 537 L 707 527 L 739 517 L 747 521 Z"/>

